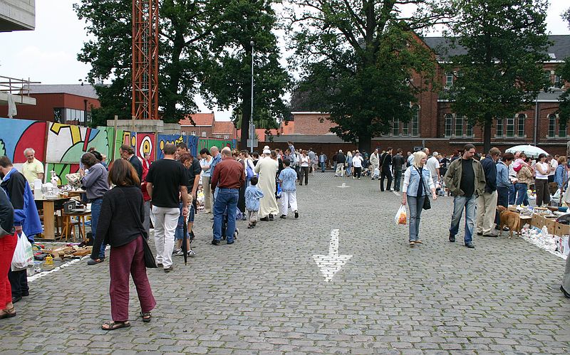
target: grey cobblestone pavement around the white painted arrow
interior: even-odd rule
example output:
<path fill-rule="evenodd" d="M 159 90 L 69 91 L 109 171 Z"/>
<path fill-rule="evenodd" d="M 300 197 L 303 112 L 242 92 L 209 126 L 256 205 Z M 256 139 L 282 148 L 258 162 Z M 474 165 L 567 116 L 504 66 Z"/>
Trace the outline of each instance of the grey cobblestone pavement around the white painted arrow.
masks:
<path fill-rule="evenodd" d="M 197 258 L 148 270 L 148 324 L 132 287 L 132 327 L 100 329 L 108 262 L 33 281 L 18 316 L 0 321 L 1 354 L 569 354 L 564 260 L 506 236 L 449 243 L 451 198 L 425 211 L 425 244 L 409 248 L 393 219 L 400 197 L 368 178 L 319 172 L 297 196 L 298 220 L 239 221 L 234 245 L 210 245 L 211 215 L 199 213 Z M 333 229 L 353 256 L 325 282 L 312 255 L 328 253 Z"/>

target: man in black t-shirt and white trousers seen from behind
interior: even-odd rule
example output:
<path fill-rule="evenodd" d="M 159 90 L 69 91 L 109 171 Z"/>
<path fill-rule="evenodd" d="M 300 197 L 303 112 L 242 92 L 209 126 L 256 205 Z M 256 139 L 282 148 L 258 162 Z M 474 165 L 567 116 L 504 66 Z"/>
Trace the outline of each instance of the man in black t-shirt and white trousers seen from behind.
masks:
<path fill-rule="evenodd" d="M 152 163 L 147 174 L 147 191 L 152 199 L 152 213 L 155 215 L 156 261 L 165 272 L 172 271 L 172 250 L 174 235 L 180 216 L 188 216 L 188 205 L 192 195 L 187 194 L 188 176 L 186 169 L 174 159 L 176 147 L 166 144 L 162 149 L 165 157 Z"/>

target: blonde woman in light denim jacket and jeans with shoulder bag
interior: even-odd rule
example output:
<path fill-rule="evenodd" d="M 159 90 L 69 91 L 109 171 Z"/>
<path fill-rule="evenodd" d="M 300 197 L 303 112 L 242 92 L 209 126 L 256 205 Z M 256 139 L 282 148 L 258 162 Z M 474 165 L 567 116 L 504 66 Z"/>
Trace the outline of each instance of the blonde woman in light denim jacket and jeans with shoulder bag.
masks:
<path fill-rule="evenodd" d="M 413 164 L 406 169 L 404 174 L 404 186 L 402 189 L 402 204 L 408 203 L 410 210 L 410 247 L 422 244 L 418 234 L 420 233 L 420 216 L 425 198 L 437 199 L 430 169 L 425 166 L 427 155 L 424 152 L 415 152 Z"/>

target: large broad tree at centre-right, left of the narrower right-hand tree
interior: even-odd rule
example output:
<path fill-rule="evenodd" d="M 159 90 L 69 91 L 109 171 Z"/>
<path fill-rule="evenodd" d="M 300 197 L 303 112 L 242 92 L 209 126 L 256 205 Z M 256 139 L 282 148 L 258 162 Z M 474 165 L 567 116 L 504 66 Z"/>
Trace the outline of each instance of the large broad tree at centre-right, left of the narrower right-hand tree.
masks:
<path fill-rule="evenodd" d="M 437 1 L 293 0 L 291 66 L 301 69 L 297 90 L 323 107 L 345 141 L 370 151 L 371 138 L 393 120 L 407 122 L 413 102 L 432 88 L 435 60 L 415 35 L 442 21 Z M 418 7 L 403 16 L 400 6 Z M 418 80 L 419 78 L 419 80 Z"/>

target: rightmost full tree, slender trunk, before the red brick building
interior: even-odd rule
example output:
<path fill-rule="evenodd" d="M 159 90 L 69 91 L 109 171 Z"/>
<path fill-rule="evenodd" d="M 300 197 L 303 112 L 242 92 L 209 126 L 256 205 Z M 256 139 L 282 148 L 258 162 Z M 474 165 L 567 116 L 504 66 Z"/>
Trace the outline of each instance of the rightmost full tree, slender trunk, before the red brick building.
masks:
<path fill-rule="evenodd" d="M 484 152 L 494 120 L 533 105 L 546 85 L 546 0 L 454 0 L 451 41 L 466 53 L 450 58 L 461 73 L 448 92 L 451 108 L 484 127 Z"/>

